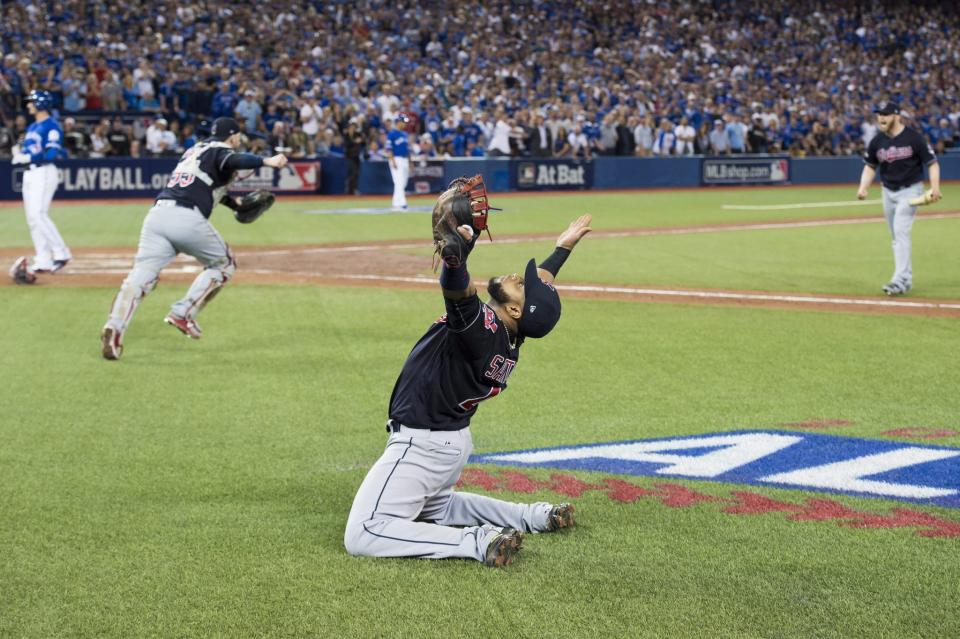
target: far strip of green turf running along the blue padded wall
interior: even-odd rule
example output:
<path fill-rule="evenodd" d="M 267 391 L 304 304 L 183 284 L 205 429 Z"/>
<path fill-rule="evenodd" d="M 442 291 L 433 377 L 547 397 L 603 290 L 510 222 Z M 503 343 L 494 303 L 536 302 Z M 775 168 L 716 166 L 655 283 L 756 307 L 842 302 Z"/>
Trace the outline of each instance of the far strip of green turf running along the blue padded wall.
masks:
<path fill-rule="evenodd" d="M 960 210 L 960 184 L 943 188 L 944 199 L 924 212 Z M 597 229 L 659 228 L 731 222 L 819 219 L 831 217 L 881 216 L 879 204 L 787 210 L 724 210 L 724 204 L 783 205 L 816 202 L 853 202 L 856 187 L 793 189 L 701 189 L 687 191 L 635 191 L 629 193 L 574 192 L 547 195 L 492 194 L 491 201 L 503 207 L 494 214 L 497 234 L 543 233 L 559 231 L 573 214 L 591 213 Z M 871 190 L 871 198 L 880 197 L 880 188 Z M 411 206 L 428 206 L 428 197 L 411 197 Z M 51 215 L 69 243 L 77 247 L 134 246 L 140 223 L 150 202 L 127 204 L 54 202 Z M 428 213 L 399 215 L 307 214 L 307 211 L 361 207 L 389 207 L 389 198 L 336 198 L 303 200 L 282 199 L 268 216 L 255 225 L 244 226 L 230 219 L 230 212 L 219 207 L 214 224 L 227 239 L 242 245 L 304 244 L 356 242 L 388 239 L 419 239 L 429 228 Z M 558 217 L 560 219 L 558 219 Z M 19 208 L 0 209 L 0 247 L 29 246 L 23 212 Z"/>

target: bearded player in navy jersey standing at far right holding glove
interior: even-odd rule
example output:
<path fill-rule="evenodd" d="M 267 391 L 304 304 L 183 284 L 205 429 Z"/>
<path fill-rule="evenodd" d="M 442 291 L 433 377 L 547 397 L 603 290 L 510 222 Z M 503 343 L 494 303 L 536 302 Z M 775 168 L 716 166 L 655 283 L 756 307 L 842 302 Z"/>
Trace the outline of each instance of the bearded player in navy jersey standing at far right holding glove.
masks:
<path fill-rule="evenodd" d="M 883 183 L 883 214 L 893 236 L 893 277 L 883 286 L 887 295 L 903 295 L 913 286 L 913 269 L 910 263 L 910 230 L 917 214 L 917 207 L 910 200 L 923 196 L 923 167 L 930 173 L 930 201 L 936 202 L 940 194 L 940 164 L 937 156 L 923 136 L 905 126 L 900 116 L 900 107 L 887 102 L 874 109 L 879 132 L 870 141 L 863 156 L 865 165 L 860 174 L 860 190 L 857 199 L 867 197 L 867 189 L 877 171 Z"/>

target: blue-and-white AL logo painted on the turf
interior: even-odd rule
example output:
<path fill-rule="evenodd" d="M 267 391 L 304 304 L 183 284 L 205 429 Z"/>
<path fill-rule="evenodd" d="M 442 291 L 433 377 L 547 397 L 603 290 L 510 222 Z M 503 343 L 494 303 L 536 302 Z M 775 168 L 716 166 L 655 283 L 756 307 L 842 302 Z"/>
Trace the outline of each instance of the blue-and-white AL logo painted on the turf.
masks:
<path fill-rule="evenodd" d="M 960 508 L 960 448 L 784 431 L 476 455 L 474 463 L 680 477 Z"/>

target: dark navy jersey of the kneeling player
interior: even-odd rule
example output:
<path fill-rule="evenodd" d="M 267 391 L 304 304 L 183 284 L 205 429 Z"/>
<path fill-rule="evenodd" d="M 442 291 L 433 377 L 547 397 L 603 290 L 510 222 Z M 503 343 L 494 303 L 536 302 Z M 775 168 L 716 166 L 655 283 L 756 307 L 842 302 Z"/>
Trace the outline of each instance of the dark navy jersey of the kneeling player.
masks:
<path fill-rule="evenodd" d="M 476 295 L 446 300 L 447 314 L 416 343 L 390 397 L 390 419 L 404 426 L 460 430 L 477 405 L 507 387 L 518 347 Z"/>

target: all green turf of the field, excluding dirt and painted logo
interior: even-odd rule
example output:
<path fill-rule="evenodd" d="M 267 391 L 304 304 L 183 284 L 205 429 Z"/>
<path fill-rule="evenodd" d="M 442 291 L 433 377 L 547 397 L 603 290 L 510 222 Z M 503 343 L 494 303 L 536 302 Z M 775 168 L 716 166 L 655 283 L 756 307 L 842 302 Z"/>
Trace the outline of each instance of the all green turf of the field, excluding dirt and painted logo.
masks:
<path fill-rule="evenodd" d="M 517 211 L 494 230 L 559 232 L 586 211 L 607 229 L 820 217 L 830 210 L 719 203 L 832 201 L 850 190 L 505 196 Z M 252 227 L 225 215 L 215 223 L 248 245 L 422 238 L 426 226 L 426 214 L 282 206 Z M 64 207 L 58 222 L 75 246 L 132 247 L 142 214 Z M 0 210 L 0 245 L 26 245 L 23 224 L 16 209 Z M 958 240 L 960 220 L 918 223 L 918 295 L 960 298 Z M 471 270 L 517 270 L 549 246 L 481 246 Z M 889 270 L 877 224 L 588 238 L 560 279 L 872 295 Z M 0 637 L 960 635 L 960 538 L 910 527 L 617 503 L 590 491 L 574 500 L 576 528 L 529 537 L 504 570 L 350 557 L 347 512 L 382 452 L 403 360 L 443 311 L 439 293 L 241 280 L 204 311 L 204 337 L 191 341 L 161 322 L 184 286 L 161 282 L 146 298 L 119 362 L 99 353 L 113 289 L 0 287 Z M 960 431 L 958 352 L 950 318 L 566 299 L 554 333 L 523 347 L 509 390 L 480 408 L 476 452 L 814 418 L 852 422 L 838 434 L 873 439 L 908 426 Z M 916 441 L 960 447 L 960 436 Z M 716 497 L 744 488 L 676 483 Z M 956 509 L 829 498 L 960 522 Z"/>

